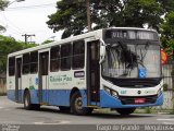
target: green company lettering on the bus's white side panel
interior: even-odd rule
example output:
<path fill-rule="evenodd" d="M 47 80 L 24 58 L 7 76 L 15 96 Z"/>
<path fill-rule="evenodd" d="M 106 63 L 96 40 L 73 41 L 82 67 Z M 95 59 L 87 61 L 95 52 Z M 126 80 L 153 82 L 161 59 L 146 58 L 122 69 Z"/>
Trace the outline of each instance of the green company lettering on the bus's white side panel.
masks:
<path fill-rule="evenodd" d="M 72 81 L 72 78 L 67 75 L 54 75 L 50 76 L 50 82 L 70 82 Z"/>

